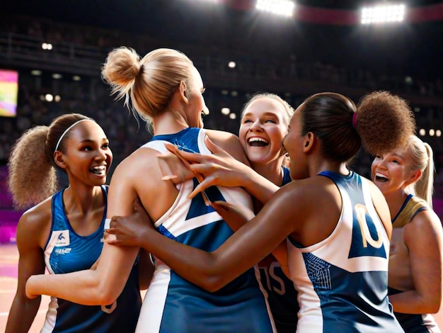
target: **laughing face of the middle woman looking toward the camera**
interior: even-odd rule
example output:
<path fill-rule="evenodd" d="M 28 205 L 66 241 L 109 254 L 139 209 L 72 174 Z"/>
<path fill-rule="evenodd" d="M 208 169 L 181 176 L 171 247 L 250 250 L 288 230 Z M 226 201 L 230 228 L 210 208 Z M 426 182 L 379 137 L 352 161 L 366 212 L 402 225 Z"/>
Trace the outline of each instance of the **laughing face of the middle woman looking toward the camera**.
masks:
<path fill-rule="evenodd" d="M 247 106 L 238 137 L 251 164 L 266 164 L 283 156 L 288 123 L 287 111 L 275 99 L 260 97 Z"/>

